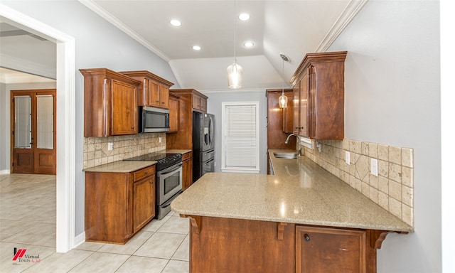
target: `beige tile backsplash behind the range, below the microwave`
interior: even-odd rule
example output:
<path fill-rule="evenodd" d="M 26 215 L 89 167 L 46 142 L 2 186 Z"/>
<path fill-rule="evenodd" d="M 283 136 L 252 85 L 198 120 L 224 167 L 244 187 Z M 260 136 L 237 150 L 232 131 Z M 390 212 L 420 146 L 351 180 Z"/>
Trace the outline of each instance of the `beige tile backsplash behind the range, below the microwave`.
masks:
<path fill-rule="evenodd" d="M 109 142 L 112 142 L 112 150 L 110 151 L 108 149 Z M 164 149 L 166 149 L 166 133 L 146 133 L 119 137 L 85 137 L 84 168 Z"/>

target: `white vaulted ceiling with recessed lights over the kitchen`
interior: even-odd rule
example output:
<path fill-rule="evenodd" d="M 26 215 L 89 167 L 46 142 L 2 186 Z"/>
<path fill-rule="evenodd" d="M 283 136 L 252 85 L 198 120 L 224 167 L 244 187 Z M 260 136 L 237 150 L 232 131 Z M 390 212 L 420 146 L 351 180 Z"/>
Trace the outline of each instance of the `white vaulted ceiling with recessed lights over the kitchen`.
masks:
<path fill-rule="evenodd" d="M 180 87 L 217 91 L 228 89 L 234 52 L 243 90 L 282 87 L 304 55 L 326 51 L 367 0 L 79 1 L 167 60 Z M 250 19 L 240 21 L 241 13 Z M 174 18 L 181 26 L 169 23 Z"/>

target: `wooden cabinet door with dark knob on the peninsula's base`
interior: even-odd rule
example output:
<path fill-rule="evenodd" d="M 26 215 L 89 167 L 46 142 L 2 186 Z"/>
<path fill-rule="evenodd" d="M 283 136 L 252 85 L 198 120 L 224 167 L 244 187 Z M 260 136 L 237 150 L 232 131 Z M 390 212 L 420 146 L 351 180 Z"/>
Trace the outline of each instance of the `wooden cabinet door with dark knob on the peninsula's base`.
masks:
<path fill-rule="evenodd" d="M 296 272 L 366 273 L 366 232 L 296 226 Z"/>

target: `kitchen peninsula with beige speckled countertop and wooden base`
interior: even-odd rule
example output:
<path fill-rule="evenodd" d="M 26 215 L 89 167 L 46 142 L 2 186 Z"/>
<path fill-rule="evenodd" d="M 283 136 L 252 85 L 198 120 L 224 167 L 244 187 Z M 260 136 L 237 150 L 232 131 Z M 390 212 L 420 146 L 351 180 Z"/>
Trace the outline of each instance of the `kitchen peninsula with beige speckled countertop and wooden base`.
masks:
<path fill-rule="evenodd" d="M 402 222 L 304 156 L 275 176 L 208 173 L 171 203 L 190 218 L 190 272 L 376 272 Z"/>

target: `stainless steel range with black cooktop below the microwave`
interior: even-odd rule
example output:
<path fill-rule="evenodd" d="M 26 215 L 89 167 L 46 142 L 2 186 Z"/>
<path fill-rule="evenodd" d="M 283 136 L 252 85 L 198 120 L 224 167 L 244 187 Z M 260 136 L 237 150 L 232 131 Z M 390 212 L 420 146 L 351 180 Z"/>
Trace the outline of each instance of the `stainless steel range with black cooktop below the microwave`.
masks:
<path fill-rule="evenodd" d="M 164 218 L 171 211 L 171 202 L 182 192 L 182 154 L 157 151 L 125 159 L 156 161 L 156 217 Z"/>

